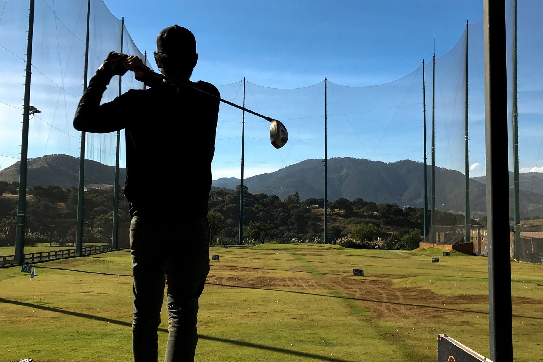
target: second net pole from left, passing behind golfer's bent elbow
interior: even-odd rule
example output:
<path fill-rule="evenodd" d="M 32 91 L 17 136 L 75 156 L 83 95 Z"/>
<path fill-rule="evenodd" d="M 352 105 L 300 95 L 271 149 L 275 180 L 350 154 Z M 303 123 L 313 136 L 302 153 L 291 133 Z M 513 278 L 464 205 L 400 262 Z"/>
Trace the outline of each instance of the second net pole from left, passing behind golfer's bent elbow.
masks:
<path fill-rule="evenodd" d="M 89 33 L 91 26 L 91 0 L 87 1 L 87 31 L 85 35 L 85 64 L 83 70 L 83 91 L 87 89 L 89 71 Z M 79 152 L 79 189 L 77 190 L 77 222 L 75 227 L 75 255 L 83 255 L 83 217 L 85 204 L 85 136 L 81 131 L 81 149 Z"/>

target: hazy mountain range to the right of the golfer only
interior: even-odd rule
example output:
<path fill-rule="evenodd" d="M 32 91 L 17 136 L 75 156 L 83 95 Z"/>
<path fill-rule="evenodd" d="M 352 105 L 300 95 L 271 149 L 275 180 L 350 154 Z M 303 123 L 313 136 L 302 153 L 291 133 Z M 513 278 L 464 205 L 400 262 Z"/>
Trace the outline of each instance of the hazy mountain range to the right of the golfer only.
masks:
<path fill-rule="evenodd" d="M 422 163 L 401 160 L 394 163 L 383 163 L 355 158 L 331 158 L 328 164 L 328 199 L 334 201 L 340 197 L 350 199 L 362 198 L 376 203 L 393 203 L 400 207 L 424 206 L 424 166 Z M 428 173 L 428 204 L 431 204 L 430 177 Z M 543 189 L 537 179 L 543 179 L 543 173 L 521 174 L 521 210 L 523 217 L 543 216 Z M 528 180 L 534 180 L 530 181 Z M 323 160 L 311 159 L 281 168 L 275 172 L 259 174 L 244 180 L 249 192 L 255 194 L 264 192 L 277 195 L 281 199 L 298 191 L 301 200 L 306 198 L 324 197 L 324 167 Z M 541 182 L 543 180 L 539 180 Z M 485 213 L 486 179 L 483 177 L 470 179 L 470 210 L 472 217 Z M 213 180 L 213 186 L 234 189 L 240 180 L 235 177 Z M 464 212 L 463 173 L 446 168 L 436 167 L 435 170 L 435 206 L 437 210 Z M 510 202 L 512 205 L 512 202 Z"/>

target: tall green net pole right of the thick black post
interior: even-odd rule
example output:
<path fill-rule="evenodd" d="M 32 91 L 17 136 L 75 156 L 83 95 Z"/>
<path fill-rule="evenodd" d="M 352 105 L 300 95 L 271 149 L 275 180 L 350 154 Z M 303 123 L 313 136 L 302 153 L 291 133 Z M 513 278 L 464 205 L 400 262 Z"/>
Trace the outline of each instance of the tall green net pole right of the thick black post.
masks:
<path fill-rule="evenodd" d="M 516 65 L 516 0 L 513 25 L 513 256 L 520 257 L 519 103 Z"/>

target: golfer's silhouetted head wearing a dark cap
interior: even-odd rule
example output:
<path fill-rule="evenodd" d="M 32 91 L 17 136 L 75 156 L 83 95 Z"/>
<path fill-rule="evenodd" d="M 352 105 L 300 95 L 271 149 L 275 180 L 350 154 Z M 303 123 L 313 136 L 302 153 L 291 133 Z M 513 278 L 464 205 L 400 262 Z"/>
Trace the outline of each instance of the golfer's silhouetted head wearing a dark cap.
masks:
<path fill-rule="evenodd" d="M 165 76 L 190 79 L 198 61 L 194 34 L 178 25 L 162 30 L 156 37 L 155 61 Z"/>

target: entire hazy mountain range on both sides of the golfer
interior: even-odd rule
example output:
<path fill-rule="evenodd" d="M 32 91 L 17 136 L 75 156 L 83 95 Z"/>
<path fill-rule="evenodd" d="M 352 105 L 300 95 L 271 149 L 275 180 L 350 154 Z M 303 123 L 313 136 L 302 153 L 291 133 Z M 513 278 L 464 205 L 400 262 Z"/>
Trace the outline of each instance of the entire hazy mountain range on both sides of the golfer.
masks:
<path fill-rule="evenodd" d="M 375 203 L 392 203 L 400 207 L 422 207 L 424 205 L 424 183 L 422 163 L 401 160 L 383 163 L 356 158 L 331 158 L 328 164 L 328 199 L 347 198 L 351 201 L 362 198 Z M 428 172 L 428 204 L 431 205 L 430 177 Z M 61 188 L 77 188 L 79 159 L 64 155 L 46 155 L 28 160 L 28 187 L 33 185 L 58 185 Z M 115 168 L 96 161 L 85 161 L 85 185 L 113 185 Z M 0 180 L 18 181 L 19 163 L 0 171 Z M 119 171 L 119 183 L 124 185 L 125 168 Z M 157 176 L 158 177 L 158 176 Z M 543 216 L 543 173 L 521 173 L 520 176 L 521 217 Z M 512 184 L 510 173 L 510 184 Z M 470 209 L 472 217 L 486 211 L 486 178 L 470 179 Z M 233 190 L 240 180 L 235 177 L 213 180 L 213 189 Z M 463 213 L 463 173 L 446 168 L 435 170 L 435 207 L 441 211 Z M 280 170 L 248 177 L 244 180 L 252 194 L 265 193 L 284 199 L 298 192 L 300 199 L 324 197 L 323 160 L 310 159 Z M 511 192 L 509 205 L 512 207 Z"/>

